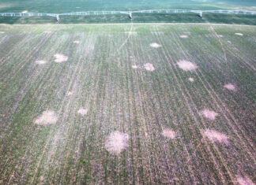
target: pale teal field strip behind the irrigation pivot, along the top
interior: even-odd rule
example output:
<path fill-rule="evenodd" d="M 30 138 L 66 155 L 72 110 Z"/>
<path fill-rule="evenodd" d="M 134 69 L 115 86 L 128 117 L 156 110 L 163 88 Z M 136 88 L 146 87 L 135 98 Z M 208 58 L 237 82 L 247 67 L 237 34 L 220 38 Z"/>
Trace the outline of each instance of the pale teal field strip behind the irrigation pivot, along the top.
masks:
<path fill-rule="evenodd" d="M 2 0 L 0 12 L 66 13 L 88 10 L 256 9 L 254 0 Z"/>

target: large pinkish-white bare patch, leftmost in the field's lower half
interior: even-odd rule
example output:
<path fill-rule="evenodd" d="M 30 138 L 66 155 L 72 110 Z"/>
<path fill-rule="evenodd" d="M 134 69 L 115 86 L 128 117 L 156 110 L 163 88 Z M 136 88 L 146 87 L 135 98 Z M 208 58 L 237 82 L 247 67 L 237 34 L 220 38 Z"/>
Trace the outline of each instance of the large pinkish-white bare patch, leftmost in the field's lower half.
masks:
<path fill-rule="evenodd" d="M 42 124 L 42 125 L 55 124 L 57 120 L 58 120 L 58 117 L 56 116 L 55 111 L 46 110 L 46 111 L 43 111 L 40 117 L 36 118 L 35 123 Z"/>

